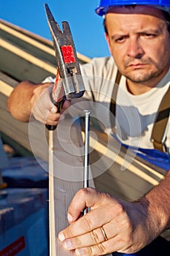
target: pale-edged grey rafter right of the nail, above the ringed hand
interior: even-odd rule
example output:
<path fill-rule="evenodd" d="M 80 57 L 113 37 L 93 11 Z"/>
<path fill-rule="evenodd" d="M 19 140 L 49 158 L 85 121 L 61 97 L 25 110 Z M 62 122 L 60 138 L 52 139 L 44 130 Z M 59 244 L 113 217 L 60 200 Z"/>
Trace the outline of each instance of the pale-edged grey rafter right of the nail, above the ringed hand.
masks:
<path fill-rule="evenodd" d="M 97 130 L 94 132 L 98 141 L 90 138 L 93 148 L 90 167 L 97 189 L 124 200 L 136 200 L 164 178 L 165 170 L 136 157 L 131 151 L 126 152 L 114 138 L 109 138 L 108 144 L 107 135 Z M 118 152 L 117 148 L 120 148 Z M 123 165 L 125 168 L 122 169 Z"/>

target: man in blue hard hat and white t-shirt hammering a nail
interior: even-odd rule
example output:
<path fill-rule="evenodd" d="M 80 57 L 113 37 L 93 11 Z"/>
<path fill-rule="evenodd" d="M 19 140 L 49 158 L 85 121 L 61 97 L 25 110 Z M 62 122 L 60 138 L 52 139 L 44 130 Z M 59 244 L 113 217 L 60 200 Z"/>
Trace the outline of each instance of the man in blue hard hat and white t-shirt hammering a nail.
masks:
<path fill-rule="evenodd" d="M 95 83 L 94 79 L 93 83 L 85 84 L 88 91 L 85 97 L 101 102 L 102 96 L 98 91 L 102 91 L 102 95 L 112 97 L 110 85 L 115 83 L 117 68 L 119 69 L 122 78 L 116 99 L 116 124 L 119 124 L 119 129 L 116 129 L 117 138 L 126 145 L 152 149 L 150 138 L 156 112 L 169 89 L 170 3 L 162 1 L 164 4 L 161 5 L 161 1 L 154 1 L 156 5 L 150 5 L 152 2 L 148 1 L 148 5 L 144 5 L 143 1 L 135 2 L 137 5 L 134 5 L 133 1 L 101 1 L 96 12 L 105 16 L 106 39 L 114 59 L 112 56 L 94 59 L 92 63 L 82 67 L 82 74 L 104 78 L 100 83 Z M 106 79 L 110 83 L 105 83 Z M 23 89 L 28 89 L 28 97 Z M 9 98 L 9 110 L 16 118 L 28 121 L 32 109 L 39 121 L 56 125 L 60 114 L 50 102 L 49 93 L 42 95 L 42 91 L 49 92 L 50 84 L 33 86 L 30 82 L 20 83 Z M 18 95 L 22 95 L 22 99 Z M 40 95 L 42 100 L 32 108 Z M 18 106 L 24 103 L 28 106 L 26 112 L 13 112 L 16 106 L 12 106 L 12 98 L 15 97 L 18 97 Z M 63 110 L 68 108 L 69 104 L 64 102 Z M 46 116 L 42 114 L 45 113 L 44 110 Z M 130 129 L 123 113 L 130 123 Z M 137 122 L 140 122 L 140 129 L 136 129 Z M 169 124 L 164 135 L 168 153 Z M 81 189 L 69 206 L 70 225 L 62 230 L 58 237 L 64 248 L 75 249 L 76 255 L 104 255 L 109 252 L 116 252 L 116 255 L 135 252 L 135 255 L 160 255 L 158 249 L 163 249 L 163 246 L 170 248 L 168 241 L 163 241 L 162 244 L 157 238 L 169 227 L 169 197 L 170 172 L 167 172 L 157 187 L 133 203 L 116 199 L 95 189 Z M 91 211 L 80 218 L 86 206 L 90 207 Z"/>

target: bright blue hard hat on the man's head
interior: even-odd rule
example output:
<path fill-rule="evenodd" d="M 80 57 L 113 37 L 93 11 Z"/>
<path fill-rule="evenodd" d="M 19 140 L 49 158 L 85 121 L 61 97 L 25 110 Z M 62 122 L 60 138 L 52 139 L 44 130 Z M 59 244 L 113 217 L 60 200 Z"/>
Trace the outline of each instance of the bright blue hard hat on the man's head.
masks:
<path fill-rule="evenodd" d="M 157 7 L 161 10 L 169 12 L 170 14 L 170 0 L 101 0 L 100 4 L 96 8 L 96 13 L 103 16 L 107 13 L 109 7 L 112 6 L 123 6 L 131 4 L 146 4 L 153 7 Z"/>

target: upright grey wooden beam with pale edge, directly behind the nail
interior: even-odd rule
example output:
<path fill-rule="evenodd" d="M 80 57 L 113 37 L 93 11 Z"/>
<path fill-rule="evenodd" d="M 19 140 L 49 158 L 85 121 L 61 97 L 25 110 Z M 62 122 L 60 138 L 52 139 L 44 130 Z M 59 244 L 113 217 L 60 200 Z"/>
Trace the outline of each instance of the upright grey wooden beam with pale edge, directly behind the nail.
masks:
<path fill-rule="evenodd" d="M 53 142 L 50 143 L 50 159 L 53 173 L 49 173 L 50 255 L 69 256 L 74 255 L 74 252 L 64 251 L 57 236 L 68 225 L 66 213 L 72 197 L 83 187 L 84 144 L 80 124 L 72 124 L 72 118 L 66 116 L 59 121 L 51 139 Z M 90 187 L 94 187 L 93 179 L 90 179 Z"/>

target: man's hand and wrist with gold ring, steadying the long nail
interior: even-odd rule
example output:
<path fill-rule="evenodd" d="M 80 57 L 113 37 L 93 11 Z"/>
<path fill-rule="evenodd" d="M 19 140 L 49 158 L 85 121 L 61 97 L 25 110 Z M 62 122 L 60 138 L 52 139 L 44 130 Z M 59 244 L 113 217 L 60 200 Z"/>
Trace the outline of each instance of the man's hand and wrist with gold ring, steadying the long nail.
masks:
<path fill-rule="evenodd" d="M 161 183 L 133 203 L 81 189 L 68 211 L 69 227 L 59 233 L 66 249 L 77 255 L 134 253 L 159 236 L 170 220 L 170 171 Z M 85 207 L 91 211 L 83 217 Z"/>

